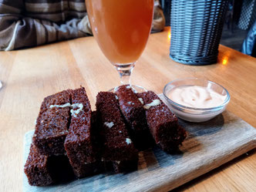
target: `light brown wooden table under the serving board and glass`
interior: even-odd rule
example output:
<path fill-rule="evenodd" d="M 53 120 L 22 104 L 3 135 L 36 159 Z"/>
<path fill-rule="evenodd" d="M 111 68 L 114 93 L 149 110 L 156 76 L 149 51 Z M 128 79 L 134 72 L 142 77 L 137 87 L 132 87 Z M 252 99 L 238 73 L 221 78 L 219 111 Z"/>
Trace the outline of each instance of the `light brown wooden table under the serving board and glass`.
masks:
<path fill-rule="evenodd" d="M 231 94 L 227 107 L 256 127 L 256 59 L 220 46 L 217 64 L 186 66 L 169 58 L 170 32 L 150 35 L 133 71 L 132 82 L 162 93 L 173 79 L 199 77 L 223 85 Z M 45 96 L 85 86 L 96 94 L 119 85 L 119 76 L 93 37 L 0 52 L 0 191 L 22 190 L 23 136 L 34 129 Z M 93 106 L 94 107 L 94 106 Z M 179 187 L 186 191 L 255 191 L 256 150 Z"/>

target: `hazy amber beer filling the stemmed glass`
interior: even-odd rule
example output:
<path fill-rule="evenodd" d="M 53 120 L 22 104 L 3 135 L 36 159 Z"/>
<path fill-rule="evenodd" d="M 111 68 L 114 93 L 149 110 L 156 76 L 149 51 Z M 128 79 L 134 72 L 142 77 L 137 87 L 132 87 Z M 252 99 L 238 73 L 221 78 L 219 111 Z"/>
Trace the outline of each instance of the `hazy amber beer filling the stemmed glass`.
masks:
<path fill-rule="evenodd" d="M 93 35 L 113 64 L 136 62 L 147 44 L 153 0 L 86 0 Z"/>

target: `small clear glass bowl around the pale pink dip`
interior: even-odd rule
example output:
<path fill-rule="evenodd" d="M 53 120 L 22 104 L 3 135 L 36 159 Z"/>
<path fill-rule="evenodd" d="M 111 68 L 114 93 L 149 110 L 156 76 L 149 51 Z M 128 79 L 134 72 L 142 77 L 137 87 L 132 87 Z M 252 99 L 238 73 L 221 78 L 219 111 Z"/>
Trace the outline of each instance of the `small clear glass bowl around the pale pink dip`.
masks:
<path fill-rule="evenodd" d="M 168 93 L 178 87 L 178 86 L 204 86 L 208 89 L 212 89 L 215 92 L 227 96 L 220 106 L 212 108 L 194 108 L 190 106 L 183 106 L 178 103 L 175 103 L 173 100 L 167 97 Z M 167 83 L 163 88 L 163 96 L 167 99 L 170 109 L 174 114 L 176 114 L 180 119 L 187 120 L 190 122 L 204 122 L 211 120 L 214 116 L 222 113 L 226 109 L 227 104 L 229 103 L 231 96 L 223 86 L 211 82 L 207 79 L 197 79 L 197 78 L 187 78 L 187 79 L 177 79 L 170 83 Z"/>

